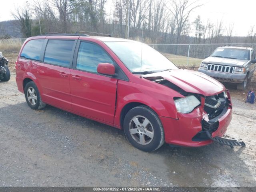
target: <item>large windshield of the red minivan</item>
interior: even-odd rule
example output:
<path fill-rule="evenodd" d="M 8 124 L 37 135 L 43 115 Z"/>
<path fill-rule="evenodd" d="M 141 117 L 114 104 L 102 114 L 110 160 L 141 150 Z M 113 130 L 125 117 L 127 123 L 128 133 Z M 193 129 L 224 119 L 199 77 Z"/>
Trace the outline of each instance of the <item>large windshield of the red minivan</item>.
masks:
<path fill-rule="evenodd" d="M 140 42 L 104 42 L 133 73 L 178 69 L 170 60 Z"/>

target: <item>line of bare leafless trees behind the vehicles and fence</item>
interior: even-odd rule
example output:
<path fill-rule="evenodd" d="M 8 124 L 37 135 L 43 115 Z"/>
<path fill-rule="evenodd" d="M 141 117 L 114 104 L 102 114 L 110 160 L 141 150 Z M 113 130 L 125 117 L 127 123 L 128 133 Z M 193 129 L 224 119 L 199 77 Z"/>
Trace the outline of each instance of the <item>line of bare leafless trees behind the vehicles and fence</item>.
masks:
<path fill-rule="evenodd" d="M 256 43 L 256 27 L 234 37 L 234 24 L 206 23 L 191 12 L 199 0 L 35 0 L 12 13 L 23 37 L 90 31 L 155 44 Z M 106 6 L 110 6 L 108 10 Z M 129 32 L 128 32 L 129 28 Z M 191 32 L 193 31 L 193 33 Z"/>

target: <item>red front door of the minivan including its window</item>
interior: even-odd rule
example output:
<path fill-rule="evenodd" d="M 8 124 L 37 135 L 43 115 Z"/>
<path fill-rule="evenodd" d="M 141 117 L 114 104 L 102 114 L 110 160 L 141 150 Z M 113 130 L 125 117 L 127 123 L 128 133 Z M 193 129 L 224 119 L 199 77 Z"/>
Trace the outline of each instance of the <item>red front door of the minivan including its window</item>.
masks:
<path fill-rule="evenodd" d="M 72 108 L 84 116 L 113 123 L 117 79 L 98 74 L 99 63 L 114 64 L 102 47 L 81 42 L 76 66 L 70 72 Z"/>

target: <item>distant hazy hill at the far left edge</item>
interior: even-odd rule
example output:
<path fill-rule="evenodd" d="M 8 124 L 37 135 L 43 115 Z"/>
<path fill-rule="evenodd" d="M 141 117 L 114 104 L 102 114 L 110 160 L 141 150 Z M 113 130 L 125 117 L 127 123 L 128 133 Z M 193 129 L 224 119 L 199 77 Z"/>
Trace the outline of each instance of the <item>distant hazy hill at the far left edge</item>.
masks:
<path fill-rule="evenodd" d="M 16 20 L 2 21 L 0 22 L 0 37 L 6 34 L 12 38 L 20 38 L 22 34 L 17 27 Z"/>

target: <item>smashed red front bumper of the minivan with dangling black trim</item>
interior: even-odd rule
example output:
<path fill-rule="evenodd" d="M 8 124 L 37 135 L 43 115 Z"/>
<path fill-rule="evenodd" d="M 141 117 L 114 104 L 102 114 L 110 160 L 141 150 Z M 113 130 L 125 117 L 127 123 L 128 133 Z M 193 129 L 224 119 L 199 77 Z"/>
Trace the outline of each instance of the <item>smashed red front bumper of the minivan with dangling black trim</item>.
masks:
<path fill-rule="evenodd" d="M 205 146 L 212 142 L 229 146 L 245 146 L 244 142 L 221 138 L 226 133 L 232 118 L 230 94 L 228 90 L 226 92 L 228 98 L 224 104 L 225 107 L 222 112 L 216 113 L 216 116 L 208 116 L 204 108 L 205 99 L 202 97 L 201 106 L 189 114 L 179 114 L 178 119 L 160 117 L 166 143 L 184 147 Z"/>

